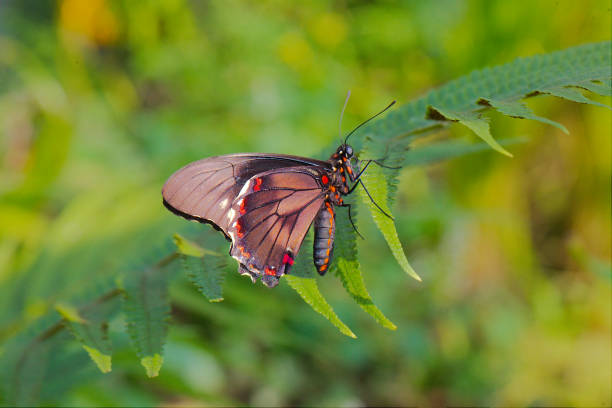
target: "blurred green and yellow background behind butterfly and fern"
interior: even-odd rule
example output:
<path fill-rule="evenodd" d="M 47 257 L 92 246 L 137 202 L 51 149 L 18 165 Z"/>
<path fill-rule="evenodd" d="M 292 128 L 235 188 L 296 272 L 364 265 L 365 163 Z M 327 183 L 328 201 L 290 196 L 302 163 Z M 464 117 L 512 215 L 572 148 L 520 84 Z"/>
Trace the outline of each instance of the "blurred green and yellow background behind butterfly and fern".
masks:
<path fill-rule="evenodd" d="M 349 89 L 345 130 L 392 99 L 609 40 L 610 27 L 608 0 L 3 0 L 0 342 L 184 228 L 160 188 L 185 163 L 315 155 L 335 143 Z M 83 374 L 42 401 L 609 406 L 610 112 L 529 104 L 571 135 L 492 114 L 498 138 L 529 139 L 514 159 L 491 151 L 403 171 L 394 215 L 423 283 L 360 217 L 365 280 L 397 331 L 333 276 L 321 289 L 356 340 L 286 283 L 271 291 L 231 273 L 225 302 L 209 304 L 179 279 L 158 378 L 118 318 L 113 371 L 74 343 L 67 370 Z"/>

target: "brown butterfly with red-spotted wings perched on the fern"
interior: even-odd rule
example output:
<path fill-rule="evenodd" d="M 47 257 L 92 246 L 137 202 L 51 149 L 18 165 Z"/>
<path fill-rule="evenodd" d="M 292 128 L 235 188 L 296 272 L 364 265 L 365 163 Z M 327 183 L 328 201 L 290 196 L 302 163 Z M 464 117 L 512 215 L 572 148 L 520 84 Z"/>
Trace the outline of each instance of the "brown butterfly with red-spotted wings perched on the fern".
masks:
<path fill-rule="evenodd" d="M 360 170 L 348 138 L 394 103 L 353 129 L 327 161 L 237 153 L 187 164 L 166 181 L 163 204 L 174 214 L 223 232 L 231 242 L 230 255 L 238 261 L 238 272 L 253 282 L 261 278 L 268 287 L 289 273 L 314 224 L 313 260 L 324 275 L 334 250 L 335 208 L 348 208 L 350 218 L 351 205 L 343 197 L 359 184 L 365 189 L 361 175 L 370 163 L 382 165 L 368 160 Z"/>

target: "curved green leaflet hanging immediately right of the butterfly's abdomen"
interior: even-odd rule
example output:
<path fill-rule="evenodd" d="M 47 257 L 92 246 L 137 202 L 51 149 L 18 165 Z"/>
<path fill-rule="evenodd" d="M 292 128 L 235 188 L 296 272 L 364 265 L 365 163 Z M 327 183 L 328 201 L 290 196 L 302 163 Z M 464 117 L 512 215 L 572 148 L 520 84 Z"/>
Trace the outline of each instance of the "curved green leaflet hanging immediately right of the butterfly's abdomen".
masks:
<path fill-rule="evenodd" d="M 348 218 L 346 209 L 336 211 L 336 236 L 332 270 L 338 275 L 342 286 L 357 304 L 369 313 L 381 326 L 390 330 L 397 329 L 387 317 L 376 307 L 366 289 L 357 256 L 356 233 Z M 356 217 L 356 209 L 351 209 L 351 216 Z"/>

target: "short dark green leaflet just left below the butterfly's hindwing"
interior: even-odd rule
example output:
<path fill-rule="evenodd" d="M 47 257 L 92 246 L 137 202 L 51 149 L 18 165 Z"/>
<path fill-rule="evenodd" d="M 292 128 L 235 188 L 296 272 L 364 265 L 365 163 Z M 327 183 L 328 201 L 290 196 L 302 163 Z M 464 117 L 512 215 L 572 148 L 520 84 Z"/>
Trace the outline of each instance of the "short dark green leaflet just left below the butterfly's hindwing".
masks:
<path fill-rule="evenodd" d="M 181 263 L 191 283 L 209 302 L 223 301 L 223 282 L 227 267 L 223 257 L 195 258 L 183 255 Z"/>

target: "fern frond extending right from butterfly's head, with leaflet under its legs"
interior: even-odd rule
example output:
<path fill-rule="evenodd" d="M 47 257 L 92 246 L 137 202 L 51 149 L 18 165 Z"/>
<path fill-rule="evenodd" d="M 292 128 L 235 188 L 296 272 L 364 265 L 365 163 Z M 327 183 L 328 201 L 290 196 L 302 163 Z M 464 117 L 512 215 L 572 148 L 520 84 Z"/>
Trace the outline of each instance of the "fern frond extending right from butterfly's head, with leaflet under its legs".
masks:
<path fill-rule="evenodd" d="M 511 117 L 539 120 L 565 131 L 562 125 L 533 114 L 520 102 L 521 99 L 550 94 L 575 102 L 606 106 L 588 99 L 578 88 L 610 95 L 610 59 L 611 44 L 602 42 L 520 58 L 505 65 L 475 71 L 364 127 L 354 140 L 357 146 L 362 146 L 365 158 L 384 159 L 391 166 L 401 167 L 407 164 L 407 152 L 414 139 L 450 121 L 464 124 L 493 149 L 510 155 L 491 135 L 488 122 L 481 116 L 483 109 L 492 107 Z M 393 202 L 398 175 L 396 169 L 371 166 L 362 176 L 378 205 L 387 213 Z M 409 265 L 401 251 L 393 222 L 372 205 L 363 191 L 360 196 L 368 204 L 394 256 L 407 270 Z"/>

